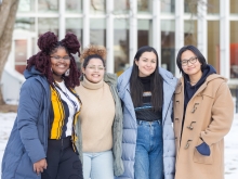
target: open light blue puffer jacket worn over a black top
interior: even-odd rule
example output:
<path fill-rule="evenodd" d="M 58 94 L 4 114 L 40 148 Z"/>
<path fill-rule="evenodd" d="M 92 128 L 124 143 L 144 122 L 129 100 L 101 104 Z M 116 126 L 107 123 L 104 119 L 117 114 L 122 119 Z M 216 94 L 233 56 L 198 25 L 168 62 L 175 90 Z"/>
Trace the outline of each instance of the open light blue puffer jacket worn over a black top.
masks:
<path fill-rule="evenodd" d="M 118 78 L 119 97 L 123 102 L 123 137 L 122 137 L 122 161 L 124 174 L 118 179 L 134 179 L 134 159 L 137 125 L 133 102 L 130 94 L 130 77 L 132 67 L 127 69 Z M 164 179 L 173 179 L 175 172 L 175 142 L 172 127 L 172 106 L 173 92 L 177 79 L 173 75 L 159 68 L 163 78 L 163 107 L 162 107 L 162 126 L 163 126 L 163 170 Z M 160 163 L 161 161 L 158 161 Z"/>

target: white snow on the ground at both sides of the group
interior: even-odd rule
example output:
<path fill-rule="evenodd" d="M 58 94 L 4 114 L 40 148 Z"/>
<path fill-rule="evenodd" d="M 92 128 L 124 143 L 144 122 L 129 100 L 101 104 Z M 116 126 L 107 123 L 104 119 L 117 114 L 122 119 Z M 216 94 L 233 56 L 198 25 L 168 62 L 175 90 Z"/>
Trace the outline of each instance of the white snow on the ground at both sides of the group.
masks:
<path fill-rule="evenodd" d="M 15 113 L 0 113 L 0 162 L 11 132 Z M 233 127 L 225 137 L 225 178 L 238 178 L 238 114 L 235 115 Z M 1 165 L 0 165 L 1 169 Z"/>

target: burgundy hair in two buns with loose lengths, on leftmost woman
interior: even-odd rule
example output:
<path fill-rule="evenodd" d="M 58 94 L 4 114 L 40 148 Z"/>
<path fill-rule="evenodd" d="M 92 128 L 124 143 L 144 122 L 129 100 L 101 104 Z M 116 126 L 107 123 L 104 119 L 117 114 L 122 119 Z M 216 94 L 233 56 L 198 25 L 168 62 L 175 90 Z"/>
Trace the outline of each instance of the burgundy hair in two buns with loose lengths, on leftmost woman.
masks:
<path fill-rule="evenodd" d="M 63 75 L 65 85 L 68 88 L 79 86 L 80 73 L 77 68 L 75 57 L 71 55 L 71 53 L 78 52 L 78 55 L 80 56 L 80 43 L 76 35 L 68 33 L 63 40 L 58 41 L 57 37 L 53 33 L 48 31 L 40 36 L 37 44 L 41 51 L 27 60 L 26 68 L 28 71 L 35 66 L 37 71 L 47 77 L 49 84 L 54 88 L 54 78 L 51 69 L 50 55 L 56 52 L 58 48 L 64 48 L 70 57 L 69 76 Z"/>

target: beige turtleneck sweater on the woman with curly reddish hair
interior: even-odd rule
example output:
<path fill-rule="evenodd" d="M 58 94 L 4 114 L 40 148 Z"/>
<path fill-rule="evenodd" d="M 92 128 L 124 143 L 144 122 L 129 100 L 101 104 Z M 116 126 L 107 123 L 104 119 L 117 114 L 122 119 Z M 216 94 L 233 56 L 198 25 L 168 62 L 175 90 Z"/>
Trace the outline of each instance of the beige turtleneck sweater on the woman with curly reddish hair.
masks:
<path fill-rule="evenodd" d="M 83 77 L 76 88 L 82 101 L 80 112 L 82 152 L 102 152 L 113 148 L 115 101 L 109 86 L 102 80 L 92 84 Z"/>

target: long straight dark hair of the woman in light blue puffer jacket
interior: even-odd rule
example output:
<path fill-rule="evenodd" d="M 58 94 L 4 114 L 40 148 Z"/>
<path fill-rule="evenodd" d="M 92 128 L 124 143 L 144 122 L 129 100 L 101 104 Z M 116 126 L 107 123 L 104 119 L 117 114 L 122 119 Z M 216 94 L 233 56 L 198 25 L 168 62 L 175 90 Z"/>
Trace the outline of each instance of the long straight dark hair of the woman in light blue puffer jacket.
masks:
<path fill-rule="evenodd" d="M 141 55 L 144 52 L 154 52 L 156 54 L 156 69 L 150 75 L 150 90 L 151 90 L 151 104 L 155 111 L 160 111 L 162 108 L 163 103 L 163 90 L 162 90 L 162 77 L 159 74 L 159 57 L 157 51 L 148 46 L 141 47 L 135 56 L 134 63 L 132 67 L 132 74 L 130 77 L 130 90 L 131 90 L 131 98 L 133 101 L 134 106 L 141 106 L 143 104 L 143 84 L 138 79 L 138 66 L 135 64 L 135 61 L 138 61 Z"/>

